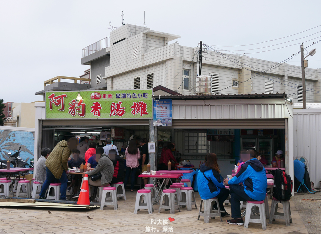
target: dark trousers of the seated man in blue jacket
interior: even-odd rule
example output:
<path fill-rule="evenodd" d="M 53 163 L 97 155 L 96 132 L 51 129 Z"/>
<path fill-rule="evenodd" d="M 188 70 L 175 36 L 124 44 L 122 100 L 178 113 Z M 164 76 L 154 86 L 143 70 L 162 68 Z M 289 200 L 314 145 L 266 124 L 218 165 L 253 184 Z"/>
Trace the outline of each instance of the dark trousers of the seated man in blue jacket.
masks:
<path fill-rule="evenodd" d="M 244 191 L 244 187 L 241 185 L 230 185 L 230 194 L 231 194 L 231 209 L 232 209 L 232 218 L 238 219 L 241 218 L 241 203 L 240 201 L 256 201 L 250 198 Z"/>

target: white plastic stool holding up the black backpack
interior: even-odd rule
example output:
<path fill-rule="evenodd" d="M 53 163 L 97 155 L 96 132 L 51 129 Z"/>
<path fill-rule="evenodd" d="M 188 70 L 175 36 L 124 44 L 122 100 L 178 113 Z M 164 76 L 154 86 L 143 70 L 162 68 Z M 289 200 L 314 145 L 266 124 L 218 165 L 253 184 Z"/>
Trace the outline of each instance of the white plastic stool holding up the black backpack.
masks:
<path fill-rule="evenodd" d="M 283 213 L 278 212 L 278 205 L 279 202 L 283 205 Z M 271 204 L 271 212 L 270 212 L 270 221 L 269 224 L 272 223 L 275 219 L 283 219 L 285 220 L 285 225 L 290 226 L 290 223 L 292 223 L 292 217 L 291 217 L 291 209 L 290 209 L 290 201 L 279 201 L 275 197 L 272 199 Z"/>

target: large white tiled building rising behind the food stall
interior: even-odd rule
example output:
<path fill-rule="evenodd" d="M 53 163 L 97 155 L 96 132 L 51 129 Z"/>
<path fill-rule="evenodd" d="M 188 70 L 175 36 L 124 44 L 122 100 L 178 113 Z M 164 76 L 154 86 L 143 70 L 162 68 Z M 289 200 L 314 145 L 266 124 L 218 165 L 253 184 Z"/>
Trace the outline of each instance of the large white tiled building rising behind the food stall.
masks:
<path fill-rule="evenodd" d="M 168 44 L 179 37 L 130 24 L 112 31 L 110 46 L 97 52 L 102 56 L 94 53 L 92 59 L 82 58 L 82 64 L 91 65 L 91 87 L 101 87 L 101 83 L 108 90 L 162 85 L 184 95 L 194 94 L 199 48 Z M 213 77 L 214 94 L 286 92 L 293 102 L 302 101 L 300 66 L 213 50 L 203 50 L 203 56 L 202 75 Z M 321 69 L 305 70 L 307 102 L 321 102 Z"/>

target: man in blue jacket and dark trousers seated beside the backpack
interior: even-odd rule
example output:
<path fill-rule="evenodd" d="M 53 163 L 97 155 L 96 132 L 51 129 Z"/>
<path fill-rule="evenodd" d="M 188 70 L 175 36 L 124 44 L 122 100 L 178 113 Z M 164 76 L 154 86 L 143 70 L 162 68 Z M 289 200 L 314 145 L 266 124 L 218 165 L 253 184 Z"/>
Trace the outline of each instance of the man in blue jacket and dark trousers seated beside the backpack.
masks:
<path fill-rule="evenodd" d="M 240 171 L 230 180 L 224 179 L 224 183 L 230 186 L 230 203 L 232 220 L 229 224 L 243 225 L 241 218 L 240 201 L 263 201 L 265 199 L 267 180 L 265 168 L 256 159 L 255 150 L 247 150 L 248 160 L 241 166 Z M 239 185 L 242 183 L 242 185 Z"/>

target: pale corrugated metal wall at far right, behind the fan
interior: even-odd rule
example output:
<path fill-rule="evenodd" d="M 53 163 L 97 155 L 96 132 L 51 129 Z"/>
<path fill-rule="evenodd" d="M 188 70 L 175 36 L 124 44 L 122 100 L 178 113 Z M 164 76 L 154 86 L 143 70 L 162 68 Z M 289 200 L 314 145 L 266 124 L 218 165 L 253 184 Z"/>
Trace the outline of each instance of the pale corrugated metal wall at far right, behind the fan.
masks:
<path fill-rule="evenodd" d="M 293 111 L 294 158 L 308 160 L 310 179 L 317 186 L 321 179 L 321 109 Z"/>

